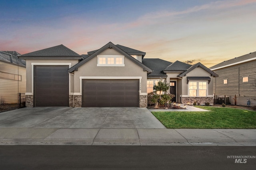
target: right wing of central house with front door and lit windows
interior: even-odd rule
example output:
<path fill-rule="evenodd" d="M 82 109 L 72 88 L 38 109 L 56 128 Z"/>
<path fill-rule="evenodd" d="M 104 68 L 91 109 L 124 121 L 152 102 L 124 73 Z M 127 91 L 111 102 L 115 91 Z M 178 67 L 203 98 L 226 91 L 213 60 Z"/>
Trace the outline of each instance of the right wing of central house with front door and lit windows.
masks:
<path fill-rule="evenodd" d="M 213 104 L 213 78 L 218 74 L 203 64 L 170 63 L 161 59 L 143 59 L 142 63 L 154 70 L 148 74 L 148 92 L 153 91 L 154 84 L 164 80 L 170 84 L 167 92 L 176 96 L 174 102 Z"/>

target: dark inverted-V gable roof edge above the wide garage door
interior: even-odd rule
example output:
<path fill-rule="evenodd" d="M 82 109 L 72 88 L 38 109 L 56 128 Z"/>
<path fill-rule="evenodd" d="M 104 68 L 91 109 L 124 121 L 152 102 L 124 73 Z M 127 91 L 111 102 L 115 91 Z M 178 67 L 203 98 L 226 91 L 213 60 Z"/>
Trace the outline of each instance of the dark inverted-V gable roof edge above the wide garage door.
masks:
<path fill-rule="evenodd" d="M 97 56 L 98 54 L 100 54 L 102 51 L 106 50 L 106 49 L 115 49 L 116 51 L 118 51 L 119 53 L 121 53 L 122 55 L 124 55 L 125 57 L 127 57 L 128 59 L 130 59 L 131 61 L 133 61 L 134 63 L 138 64 L 139 66 L 141 66 L 142 68 L 144 68 L 145 71 L 147 72 L 152 72 L 152 70 L 150 68 L 148 68 L 147 66 L 145 66 L 144 64 L 140 63 L 140 61 L 134 59 L 133 57 L 131 57 L 128 53 L 126 53 L 125 51 L 123 51 L 122 49 L 120 49 L 119 47 L 117 47 L 116 45 L 114 45 L 112 42 L 107 43 L 106 45 L 104 45 L 103 47 L 101 47 L 100 49 L 94 51 L 94 53 L 92 53 L 91 55 L 89 55 L 87 58 L 85 58 L 84 60 L 82 60 L 80 63 L 77 63 L 76 65 L 72 66 L 70 69 L 68 69 L 68 72 L 73 72 L 74 70 L 78 70 L 78 67 L 82 66 L 84 63 L 88 62 L 90 59 L 94 58 L 95 56 Z"/>

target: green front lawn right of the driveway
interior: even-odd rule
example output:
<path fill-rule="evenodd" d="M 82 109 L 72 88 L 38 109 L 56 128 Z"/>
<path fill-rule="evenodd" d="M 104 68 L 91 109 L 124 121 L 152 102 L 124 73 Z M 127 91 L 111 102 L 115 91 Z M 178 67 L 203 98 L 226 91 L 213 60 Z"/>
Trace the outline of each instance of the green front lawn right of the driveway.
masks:
<path fill-rule="evenodd" d="M 210 111 L 156 111 L 166 128 L 256 129 L 256 111 L 227 107 L 196 106 Z"/>

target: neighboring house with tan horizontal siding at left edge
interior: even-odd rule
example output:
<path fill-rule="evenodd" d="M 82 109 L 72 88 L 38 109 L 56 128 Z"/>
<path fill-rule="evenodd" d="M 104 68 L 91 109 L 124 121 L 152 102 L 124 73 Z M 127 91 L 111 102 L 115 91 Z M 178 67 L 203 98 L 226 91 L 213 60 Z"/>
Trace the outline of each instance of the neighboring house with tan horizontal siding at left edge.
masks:
<path fill-rule="evenodd" d="M 26 61 L 16 51 L 0 51 L 0 104 L 18 103 L 26 92 Z"/>

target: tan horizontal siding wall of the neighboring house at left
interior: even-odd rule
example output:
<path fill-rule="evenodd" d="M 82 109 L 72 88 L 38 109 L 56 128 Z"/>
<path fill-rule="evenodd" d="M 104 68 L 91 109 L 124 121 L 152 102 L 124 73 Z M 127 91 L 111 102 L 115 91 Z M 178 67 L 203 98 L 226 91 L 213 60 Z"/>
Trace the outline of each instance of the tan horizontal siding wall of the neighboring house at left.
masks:
<path fill-rule="evenodd" d="M 0 100 L 6 104 L 18 103 L 18 93 L 26 92 L 26 68 L 14 64 L 0 62 L 1 74 L 10 74 L 10 78 L 0 76 Z M 21 76 L 21 80 L 14 80 L 12 76 Z"/>

